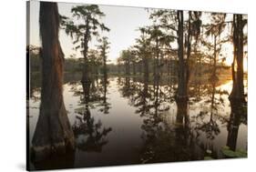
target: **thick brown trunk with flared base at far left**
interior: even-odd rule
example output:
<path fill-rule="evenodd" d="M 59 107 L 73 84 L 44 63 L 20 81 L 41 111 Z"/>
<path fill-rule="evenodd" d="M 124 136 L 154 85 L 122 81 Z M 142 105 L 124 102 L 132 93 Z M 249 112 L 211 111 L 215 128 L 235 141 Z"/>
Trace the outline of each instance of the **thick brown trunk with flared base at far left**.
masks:
<path fill-rule="evenodd" d="M 75 147 L 74 135 L 63 101 L 64 54 L 58 41 L 59 15 L 56 3 L 40 3 L 43 82 L 40 114 L 32 140 L 34 160 Z"/>

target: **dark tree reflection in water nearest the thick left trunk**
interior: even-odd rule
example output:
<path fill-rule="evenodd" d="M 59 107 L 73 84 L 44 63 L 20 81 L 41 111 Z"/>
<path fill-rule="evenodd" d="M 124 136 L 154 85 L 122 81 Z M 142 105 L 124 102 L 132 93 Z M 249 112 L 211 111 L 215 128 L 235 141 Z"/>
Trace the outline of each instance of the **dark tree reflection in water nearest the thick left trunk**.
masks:
<path fill-rule="evenodd" d="M 108 144 L 107 135 L 112 130 L 111 127 L 104 127 L 100 120 L 96 121 L 90 112 L 90 102 L 95 100 L 90 93 L 91 87 L 95 89 L 94 84 L 88 82 L 82 83 L 83 99 L 82 107 L 77 110 L 75 124 L 72 126 L 77 139 L 77 148 L 83 151 L 101 152 L 102 147 Z"/>

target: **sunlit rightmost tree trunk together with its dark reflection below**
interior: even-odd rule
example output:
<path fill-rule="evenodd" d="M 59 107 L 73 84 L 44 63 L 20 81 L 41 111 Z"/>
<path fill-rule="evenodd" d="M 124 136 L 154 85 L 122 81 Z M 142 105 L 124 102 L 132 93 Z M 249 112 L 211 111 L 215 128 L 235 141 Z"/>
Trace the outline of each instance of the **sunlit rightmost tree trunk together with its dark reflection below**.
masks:
<path fill-rule="evenodd" d="M 245 103 L 243 86 L 243 26 L 242 15 L 233 15 L 233 47 L 234 57 L 231 66 L 233 87 L 230 93 L 230 122 L 228 125 L 227 146 L 236 150 L 241 116 L 246 114 L 243 111 Z"/>

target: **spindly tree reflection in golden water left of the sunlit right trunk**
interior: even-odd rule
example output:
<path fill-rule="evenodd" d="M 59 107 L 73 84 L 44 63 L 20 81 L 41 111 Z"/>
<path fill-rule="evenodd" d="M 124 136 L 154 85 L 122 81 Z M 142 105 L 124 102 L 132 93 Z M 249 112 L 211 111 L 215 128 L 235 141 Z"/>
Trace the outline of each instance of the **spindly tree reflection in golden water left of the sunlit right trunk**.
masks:
<path fill-rule="evenodd" d="M 227 119 L 225 116 L 220 116 L 220 111 L 225 107 L 224 97 L 228 96 L 226 90 L 218 88 L 218 79 L 210 79 L 209 83 L 206 83 L 200 88 L 196 89 L 194 86 L 192 98 L 190 104 L 198 106 L 200 112 L 196 116 L 192 116 L 193 122 L 196 124 L 193 130 L 200 140 L 204 140 L 200 145 L 203 149 L 213 154 L 217 154 L 214 150 L 212 141 L 220 134 L 221 124 L 225 124 Z M 197 91 L 200 91 L 198 93 Z M 200 95 L 200 97 L 197 97 Z"/>

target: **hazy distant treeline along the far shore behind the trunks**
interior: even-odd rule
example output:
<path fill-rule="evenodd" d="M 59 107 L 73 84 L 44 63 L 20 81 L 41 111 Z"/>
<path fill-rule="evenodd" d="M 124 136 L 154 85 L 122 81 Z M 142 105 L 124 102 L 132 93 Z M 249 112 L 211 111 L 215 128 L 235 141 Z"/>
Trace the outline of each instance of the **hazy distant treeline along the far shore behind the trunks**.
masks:
<path fill-rule="evenodd" d="M 30 46 L 30 72 L 31 73 L 40 73 L 41 71 L 41 57 L 40 57 L 40 48 L 36 46 Z M 160 62 L 161 66 L 159 67 L 160 76 L 178 76 L 178 60 L 175 59 L 165 59 Z M 66 58 L 64 63 L 64 71 L 66 73 L 75 73 L 82 72 L 84 66 L 83 58 Z M 93 75 L 103 75 L 103 64 L 100 62 L 96 63 L 94 60 L 89 60 L 89 66 L 92 69 Z M 143 75 L 143 62 L 138 61 L 136 63 L 131 63 L 129 66 L 126 64 L 108 64 L 107 70 L 109 75 L 129 75 L 137 76 Z M 220 64 L 221 74 L 226 74 L 230 76 L 230 66 L 224 66 Z M 191 76 L 205 76 L 210 74 L 212 65 L 208 63 L 197 63 L 193 65 L 193 70 Z M 154 59 L 148 60 L 148 75 L 153 75 L 154 72 Z"/>

